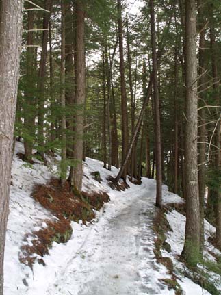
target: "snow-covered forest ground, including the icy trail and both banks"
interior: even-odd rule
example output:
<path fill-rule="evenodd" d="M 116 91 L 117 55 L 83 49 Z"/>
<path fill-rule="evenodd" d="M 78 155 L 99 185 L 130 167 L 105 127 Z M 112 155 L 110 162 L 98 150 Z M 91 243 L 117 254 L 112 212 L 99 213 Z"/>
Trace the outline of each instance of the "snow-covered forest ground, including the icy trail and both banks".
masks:
<path fill-rule="evenodd" d="M 15 154 L 18 152 L 23 152 L 21 143 L 16 144 Z M 56 174 L 55 163 L 51 162 L 48 168 L 35 162 L 34 165 L 25 164 L 16 155 L 13 160 L 5 248 L 5 295 L 167 295 L 179 294 L 178 284 L 182 294 L 210 294 L 188 278 L 190 275 L 179 261 L 185 216 L 174 208 L 164 214 L 171 228 L 165 232 L 166 242 L 172 251 L 158 249 L 160 256 L 172 261 L 174 269 L 168 270 L 159 257 L 157 259 L 155 227 L 159 211 L 154 205 L 155 181 L 142 178 L 141 185 L 129 183 L 130 188 L 125 191 L 112 190 L 107 177 L 116 175 L 118 170 L 112 168 L 109 172 L 101 162 L 93 159 L 86 159 L 83 191 L 106 192 L 109 203 L 100 211 L 94 211 L 96 217 L 92 222 L 72 221 L 73 233 L 68 242 L 53 242 L 49 255 L 37 255 L 39 261 L 43 259 L 44 266 L 37 261 L 31 268 L 21 264 L 22 246 L 32 244 L 27 235 L 45 229 L 47 220 L 57 220 L 57 216 L 31 196 L 36 184 L 44 185 Z M 101 174 L 100 182 L 92 176 L 96 171 Z M 163 197 L 164 205 L 183 204 L 183 199 L 168 192 L 166 185 L 163 186 Z M 207 242 L 214 228 L 206 221 L 205 227 L 205 255 L 215 261 L 214 257 L 220 253 Z M 210 275 L 221 290 L 220 277 L 212 272 Z M 174 278 L 177 285 L 172 288 Z"/>

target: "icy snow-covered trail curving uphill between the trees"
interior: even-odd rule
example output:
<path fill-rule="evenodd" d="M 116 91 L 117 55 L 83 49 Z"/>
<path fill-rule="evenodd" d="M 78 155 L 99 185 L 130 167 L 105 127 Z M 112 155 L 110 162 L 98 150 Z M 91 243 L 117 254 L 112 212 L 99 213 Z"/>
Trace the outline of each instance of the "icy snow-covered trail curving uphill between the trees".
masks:
<path fill-rule="evenodd" d="M 174 294 L 159 282 L 170 276 L 153 253 L 155 181 L 137 186 L 136 192 L 133 189 L 137 197 L 127 204 L 131 193 L 124 193 L 123 209 L 112 216 L 105 212 L 92 226 L 77 255 L 57 273 L 47 294 Z"/>

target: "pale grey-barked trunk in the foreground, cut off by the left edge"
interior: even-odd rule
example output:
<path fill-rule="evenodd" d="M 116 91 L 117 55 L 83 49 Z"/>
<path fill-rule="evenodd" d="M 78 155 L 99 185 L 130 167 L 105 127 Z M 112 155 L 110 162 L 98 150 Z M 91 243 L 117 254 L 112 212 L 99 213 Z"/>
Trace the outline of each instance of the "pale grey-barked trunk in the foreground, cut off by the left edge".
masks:
<path fill-rule="evenodd" d="M 0 26 L 0 295 L 8 220 L 12 146 L 21 51 L 23 1 L 1 1 Z"/>

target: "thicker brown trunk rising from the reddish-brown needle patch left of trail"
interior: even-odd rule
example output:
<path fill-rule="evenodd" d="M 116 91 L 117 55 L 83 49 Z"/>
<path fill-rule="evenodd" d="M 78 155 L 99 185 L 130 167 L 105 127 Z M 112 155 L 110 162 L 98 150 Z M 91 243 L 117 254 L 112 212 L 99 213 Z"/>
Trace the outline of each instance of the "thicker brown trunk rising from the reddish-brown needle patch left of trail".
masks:
<path fill-rule="evenodd" d="M 79 107 L 75 115 L 75 144 L 73 160 L 75 166 L 70 170 L 71 188 L 81 192 L 83 180 L 83 112 L 85 103 L 85 46 L 84 46 L 83 1 L 76 1 L 76 92 L 75 104 Z"/>

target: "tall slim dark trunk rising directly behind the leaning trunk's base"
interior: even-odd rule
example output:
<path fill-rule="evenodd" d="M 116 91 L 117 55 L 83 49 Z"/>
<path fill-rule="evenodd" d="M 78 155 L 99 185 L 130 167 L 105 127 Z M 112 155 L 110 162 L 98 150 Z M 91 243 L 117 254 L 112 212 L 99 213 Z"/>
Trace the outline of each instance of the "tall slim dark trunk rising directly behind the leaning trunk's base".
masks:
<path fill-rule="evenodd" d="M 118 38 L 119 38 L 119 53 L 120 53 L 120 91 L 121 91 L 121 116 L 122 116 L 122 164 L 127 157 L 127 140 L 128 140 L 128 123 L 127 123 L 127 96 L 125 85 L 125 62 L 123 52 L 123 30 L 122 30 L 122 4 L 118 0 Z M 125 165 L 122 178 L 126 181 L 127 165 Z"/>

